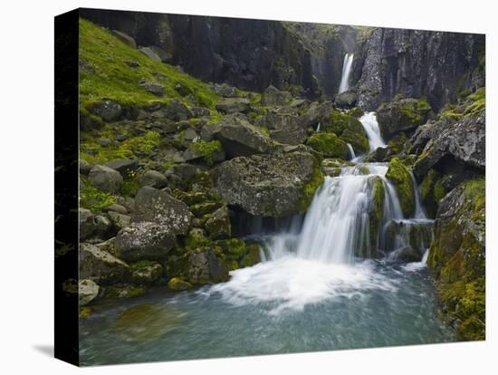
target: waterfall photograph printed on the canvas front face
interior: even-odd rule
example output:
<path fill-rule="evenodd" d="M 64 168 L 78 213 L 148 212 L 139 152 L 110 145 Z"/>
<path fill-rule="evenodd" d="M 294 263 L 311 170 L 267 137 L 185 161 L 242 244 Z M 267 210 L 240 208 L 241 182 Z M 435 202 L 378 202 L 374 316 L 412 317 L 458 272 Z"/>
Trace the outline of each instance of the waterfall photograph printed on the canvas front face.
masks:
<path fill-rule="evenodd" d="M 79 364 L 485 339 L 483 34 L 76 22 Z"/>

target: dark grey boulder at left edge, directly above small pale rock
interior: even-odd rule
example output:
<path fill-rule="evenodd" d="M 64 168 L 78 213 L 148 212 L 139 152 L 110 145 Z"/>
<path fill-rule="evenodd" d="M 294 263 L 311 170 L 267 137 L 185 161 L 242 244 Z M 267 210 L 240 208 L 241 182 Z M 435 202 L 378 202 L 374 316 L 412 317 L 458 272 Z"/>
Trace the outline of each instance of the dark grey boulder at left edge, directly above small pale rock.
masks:
<path fill-rule="evenodd" d="M 80 278 L 91 279 L 98 284 L 126 281 L 129 266 L 96 245 L 80 244 Z"/>

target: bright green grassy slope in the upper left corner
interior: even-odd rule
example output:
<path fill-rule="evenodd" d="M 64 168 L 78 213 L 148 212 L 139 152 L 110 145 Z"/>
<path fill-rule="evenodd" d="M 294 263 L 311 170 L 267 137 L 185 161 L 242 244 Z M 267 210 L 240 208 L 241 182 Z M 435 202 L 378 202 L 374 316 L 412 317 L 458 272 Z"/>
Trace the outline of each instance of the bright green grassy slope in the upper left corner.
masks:
<path fill-rule="evenodd" d="M 80 101 L 82 111 L 103 98 L 118 101 L 124 108 L 142 108 L 157 101 L 176 98 L 188 106 L 195 103 L 182 97 L 176 90 L 179 83 L 194 93 L 196 101 L 213 110 L 218 96 L 209 86 L 166 63 L 158 63 L 139 50 L 129 47 L 107 30 L 80 19 L 80 60 L 91 66 L 93 72 L 81 71 Z M 126 62 L 137 62 L 131 68 Z M 160 75 L 159 75 L 160 74 Z M 158 97 L 139 86 L 139 80 L 159 82 L 165 86 L 165 95 Z"/>

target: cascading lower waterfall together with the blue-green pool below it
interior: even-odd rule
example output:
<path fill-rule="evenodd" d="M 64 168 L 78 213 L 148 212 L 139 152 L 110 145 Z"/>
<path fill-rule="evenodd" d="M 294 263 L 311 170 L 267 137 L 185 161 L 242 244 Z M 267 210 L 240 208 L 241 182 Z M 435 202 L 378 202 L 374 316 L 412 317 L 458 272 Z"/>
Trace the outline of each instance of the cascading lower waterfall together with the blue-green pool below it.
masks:
<path fill-rule="evenodd" d="M 375 116 L 373 120 L 372 114 L 365 116 L 362 123 L 372 130 L 370 149 L 375 149 L 383 144 L 378 125 L 369 127 Z M 431 221 L 423 213 L 416 184 L 416 217 L 403 216 L 396 189 L 385 177 L 387 171 L 382 163 L 343 167 L 339 176 L 325 178 L 303 222 L 302 216 L 274 223 L 255 217 L 247 226 L 261 234 L 262 262 L 232 271 L 227 283 L 167 297 L 160 287 L 159 294 L 123 301 L 117 308 L 99 311 L 95 318 L 81 320 L 81 363 L 454 341 L 436 316 L 432 284 L 423 274 Z M 384 206 L 380 223 L 372 226 L 378 180 L 384 187 Z M 272 228 L 273 234 L 267 232 Z M 409 246 L 424 254 L 422 260 L 396 262 Z M 371 250 L 387 256 L 362 259 L 369 258 Z M 158 326 L 149 320 L 146 326 L 134 322 L 117 327 L 116 317 L 137 303 L 164 311 L 167 326 L 161 328 L 168 333 L 158 335 Z M 137 329 L 145 332 L 140 337 L 152 332 L 157 341 L 138 351 L 133 341 Z"/>

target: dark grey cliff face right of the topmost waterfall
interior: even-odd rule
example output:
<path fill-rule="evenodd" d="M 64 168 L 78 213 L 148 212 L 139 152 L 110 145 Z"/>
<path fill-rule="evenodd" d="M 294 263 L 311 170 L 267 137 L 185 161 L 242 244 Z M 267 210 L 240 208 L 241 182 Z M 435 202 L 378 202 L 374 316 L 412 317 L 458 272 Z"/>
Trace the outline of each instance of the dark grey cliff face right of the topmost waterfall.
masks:
<path fill-rule="evenodd" d="M 378 28 L 362 48 L 357 91 L 366 111 L 397 93 L 426 96 L 439 110 L 484 85 L 484 35 Z"/>

